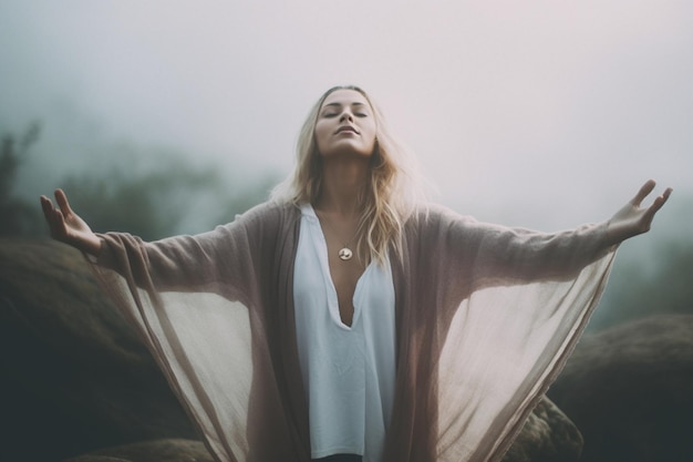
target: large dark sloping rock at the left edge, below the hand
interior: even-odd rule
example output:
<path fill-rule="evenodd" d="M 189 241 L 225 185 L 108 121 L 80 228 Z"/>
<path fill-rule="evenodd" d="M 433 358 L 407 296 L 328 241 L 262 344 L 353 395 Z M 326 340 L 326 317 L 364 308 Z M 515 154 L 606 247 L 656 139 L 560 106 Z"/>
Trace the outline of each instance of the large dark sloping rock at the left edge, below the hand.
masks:
<path fill-rule="evenodd" d="M 2 460 L 196 438 L 148 351 L 65 245 L 0 239 L 0 363 Z"/>

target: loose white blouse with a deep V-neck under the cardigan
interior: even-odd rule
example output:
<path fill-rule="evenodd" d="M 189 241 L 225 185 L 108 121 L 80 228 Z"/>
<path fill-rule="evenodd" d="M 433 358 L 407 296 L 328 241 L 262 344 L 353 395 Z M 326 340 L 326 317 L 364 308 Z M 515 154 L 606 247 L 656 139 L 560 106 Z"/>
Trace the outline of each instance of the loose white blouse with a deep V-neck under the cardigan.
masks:
<path fill-rule="evenodd" d="M 308 204 L 294 261 L 299 362 L 309 403 L 313 459 L 338 453 L 382 456 L 395 380 L 394 284 L 390 261 L 371 261 L 342 322 L 320 222 Z"/>

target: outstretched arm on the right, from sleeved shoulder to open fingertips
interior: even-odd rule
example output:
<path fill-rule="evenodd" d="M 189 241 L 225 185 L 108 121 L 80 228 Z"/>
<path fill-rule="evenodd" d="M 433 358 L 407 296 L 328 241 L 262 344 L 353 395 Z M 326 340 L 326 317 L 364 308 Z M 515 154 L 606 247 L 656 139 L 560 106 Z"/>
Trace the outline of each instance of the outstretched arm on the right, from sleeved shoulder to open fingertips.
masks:
<path fill-rule="evenodd" d="M 457 274 L 465 275 L 464 280 L 474 288 L 538 279 L 562 280 L 606 255 L 614 245 L 650 229 L 671 195 L 671 188 L 666 188 L 643 207 L 642 202 L 654 186 L 653 181 L 648 181 L 608 222 L 558 233 L 510 228 L 443 214 L 433 227 L 436 234 L 425 239 L 433 243 L 433 248 L 424 254 L 444 251 L 454 256 L 454 264 L 459 266 Z"/>

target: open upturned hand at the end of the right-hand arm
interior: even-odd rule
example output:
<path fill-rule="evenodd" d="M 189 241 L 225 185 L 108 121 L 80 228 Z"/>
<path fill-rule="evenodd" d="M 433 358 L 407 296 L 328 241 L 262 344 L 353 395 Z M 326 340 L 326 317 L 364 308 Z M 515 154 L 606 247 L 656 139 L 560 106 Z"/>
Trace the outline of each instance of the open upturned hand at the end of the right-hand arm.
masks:
<path fill-rule="evenodd" d="M 668 187 L 661 196 L 654 198 L 649 207 L 641 207 L 642 201 L 652 193 L 654 185 L 653 179 L 648 181 L 635 197 L 611 217 L 607 228 L 607 238 L 610 244 L 619 244 L 629 237 L 650 230 L 654 214 L 662 208 L 672 192 L 672 188 Z"/>

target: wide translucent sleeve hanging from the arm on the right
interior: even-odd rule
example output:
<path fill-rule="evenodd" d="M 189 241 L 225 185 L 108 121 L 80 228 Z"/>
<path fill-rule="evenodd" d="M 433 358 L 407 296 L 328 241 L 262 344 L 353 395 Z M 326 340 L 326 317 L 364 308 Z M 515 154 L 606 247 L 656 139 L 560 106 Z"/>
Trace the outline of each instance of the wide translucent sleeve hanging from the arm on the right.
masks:
<path fill-rule="evenodd" d="M 468 286 L 441 353 L 438 451 L 500 460 L 579 340 L 616 247 L 604 244 L 606 224 L 545 234 L 445 223 L 451 265 Z M 451 402 L 464 405 L 452 412 Z"/>

